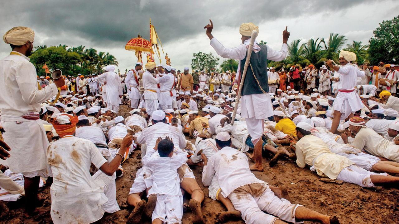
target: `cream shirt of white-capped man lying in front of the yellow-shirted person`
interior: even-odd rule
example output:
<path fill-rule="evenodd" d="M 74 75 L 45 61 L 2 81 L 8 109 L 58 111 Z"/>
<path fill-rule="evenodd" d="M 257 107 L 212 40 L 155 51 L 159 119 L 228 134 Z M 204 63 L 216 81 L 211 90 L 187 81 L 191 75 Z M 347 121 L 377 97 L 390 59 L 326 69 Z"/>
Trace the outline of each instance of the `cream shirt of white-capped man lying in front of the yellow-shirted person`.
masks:
<path fill-rule="evenodd" d="M 318 175 L 330 179 L 337 179 L 342 169 L 355 164 L 344 156 L 332 153 L 323 140 L 312 135 L 304 136 L 296 143 L 295 154 L 298 167 L 304 168 L 306 164 L 314 166 Z"/>

